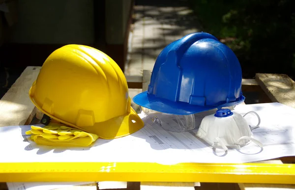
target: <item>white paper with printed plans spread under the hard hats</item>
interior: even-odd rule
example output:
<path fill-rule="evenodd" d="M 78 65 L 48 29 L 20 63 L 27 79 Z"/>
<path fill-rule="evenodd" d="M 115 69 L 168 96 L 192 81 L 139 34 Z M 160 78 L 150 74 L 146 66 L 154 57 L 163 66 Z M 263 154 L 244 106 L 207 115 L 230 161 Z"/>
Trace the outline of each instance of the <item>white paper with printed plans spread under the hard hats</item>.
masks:
<path fill-rule="evenodd" d="M 212 149 L 196 137 L 197 130 L 168 132 L 157 123 L 152 124 L 147 117 L 144 118 L 145 127 L 132 135 L 113 140 L 98 139 L 85 148 L 40 146 L 25 135 L 30 126 L 1 127 L 0 154 L 5 156 L 0 157 L 0 162 L 246 163 L 295 156 L 295 109 L 269 103 L 238 105 L 233 111 L 240 114 L 256 111 L 260 115 L 261 127 L 253 133 L 264 144 L 263 149 L 250 143 L 240 150 L 225 153 Z M 198 117 L 200 122 L 204 115 Z M 255 116 L 246 117 L 256 124 Z M 170 125 L 173 122 L 171 120 Z"/>

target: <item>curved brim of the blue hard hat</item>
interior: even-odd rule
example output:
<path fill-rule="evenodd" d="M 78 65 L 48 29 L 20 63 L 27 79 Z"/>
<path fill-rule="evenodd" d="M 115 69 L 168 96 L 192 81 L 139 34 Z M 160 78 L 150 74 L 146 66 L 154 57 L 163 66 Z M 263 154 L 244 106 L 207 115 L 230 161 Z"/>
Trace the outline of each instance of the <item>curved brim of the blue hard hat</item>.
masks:
<path fill-rule="evenodd" d="M 156 98 L 153 95 L 148 96 L 148 91 L 144 91 L 133 98 L 133 102 L 139 106 L 163 113 L 176 115 L 189 115 L 202 111 L 207 111 L 210 109 L 234 106 L 244 102 L 244 100 L 245 97 L 242 96 L 241 99 L 236 102 L 231 102 L 218 106 L 196 106 L 190 105 L 185 102 L 172 102 L 165 99 Z"/>

